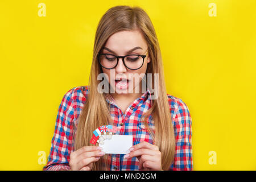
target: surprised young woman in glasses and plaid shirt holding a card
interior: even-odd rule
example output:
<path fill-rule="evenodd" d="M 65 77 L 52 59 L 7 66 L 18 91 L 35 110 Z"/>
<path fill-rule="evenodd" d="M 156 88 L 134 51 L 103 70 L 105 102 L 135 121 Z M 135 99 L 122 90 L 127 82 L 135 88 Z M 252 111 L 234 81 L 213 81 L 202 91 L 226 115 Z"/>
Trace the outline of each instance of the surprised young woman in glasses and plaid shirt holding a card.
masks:
<path fill-rule="evenodd" d="M 99 87 L 102 73 L 108 81 L 104 88 Z M 146 77 L 129 77 L 149 73 L 154 86 L 148 79 L 146 91 Z M 102 125 L 117 126 L 118 135 L 133 135 L 129 154 L 104 154 L 90 144 Z M 97 27 L 90 86 L 70 89 L 61 101 L 43 170 L 192 170 L 191 136 L 187 105 L 166 93 L 150 18 L 139 7 L 115 6 Z"/>

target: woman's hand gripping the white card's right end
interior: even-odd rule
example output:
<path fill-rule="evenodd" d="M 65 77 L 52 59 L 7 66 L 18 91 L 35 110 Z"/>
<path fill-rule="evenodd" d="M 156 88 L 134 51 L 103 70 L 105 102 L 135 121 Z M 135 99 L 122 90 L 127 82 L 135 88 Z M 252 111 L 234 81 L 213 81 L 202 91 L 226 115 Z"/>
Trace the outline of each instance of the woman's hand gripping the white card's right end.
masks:
<path fill-rule="evenodd" d="M 162 170 L 162 156 L 158 146 L 148 142 L 141 142 L 130 148 L 130 153 L 124 157 L 139 159 L 139 169 L 141 170 Z"/>

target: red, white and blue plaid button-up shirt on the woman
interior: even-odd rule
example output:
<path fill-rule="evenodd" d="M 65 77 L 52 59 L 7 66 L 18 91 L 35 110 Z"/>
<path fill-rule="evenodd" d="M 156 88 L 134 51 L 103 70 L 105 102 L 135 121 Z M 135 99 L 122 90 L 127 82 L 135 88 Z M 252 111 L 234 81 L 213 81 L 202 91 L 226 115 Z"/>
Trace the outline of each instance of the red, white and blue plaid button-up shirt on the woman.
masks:
<path fill-rule="evenodd" d="M 55 133 L 51 142 L 48 163 L 43 170 L 69 170 L 70 154 L 74 150 L 73 137 L 76 133 L 77 118 L 89 94 L 89 86 L 77 86 L 70 89 L 63 97 L 57 113 Z M 110 96 L 110 95 L 109 95 Z M 137 98 L 123 113 L 115 104 L 113 97 L 106 97 L 110 105 L 110 115 L 113 125 L 118 127 L 117 135 L 133 135 L 133 145 L 146 141 L 153 144 L 151 135 L 147 132 L 141 116 L 151 107 L 151 93 L 147 90 Z M 176 148 L 174 162 L 170 170 L 192 170 L 192 127 L 188 106 L 180 99 L 167 94 L 168 103 L 174 126 Z M 152 117 L 148 118 L 148 126 L 154 130 Z M 138 170 L 138 159 L 123 158 L 123 154 L 109 155 L 110 170 Z"/>

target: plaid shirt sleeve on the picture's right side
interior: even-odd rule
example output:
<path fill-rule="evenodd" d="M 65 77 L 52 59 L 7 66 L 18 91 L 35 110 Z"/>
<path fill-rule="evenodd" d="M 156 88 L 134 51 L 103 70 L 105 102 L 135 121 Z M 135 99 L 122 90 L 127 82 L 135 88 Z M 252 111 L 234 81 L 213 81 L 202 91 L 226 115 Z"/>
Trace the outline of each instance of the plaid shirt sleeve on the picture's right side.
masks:
<path fill-rule="evenodd" d="M 175 156 L 170 170 L 191 171 L 193 169 L 192 160 L 192 119 L 188 106 L 179 98 L 175 105 Z"/>

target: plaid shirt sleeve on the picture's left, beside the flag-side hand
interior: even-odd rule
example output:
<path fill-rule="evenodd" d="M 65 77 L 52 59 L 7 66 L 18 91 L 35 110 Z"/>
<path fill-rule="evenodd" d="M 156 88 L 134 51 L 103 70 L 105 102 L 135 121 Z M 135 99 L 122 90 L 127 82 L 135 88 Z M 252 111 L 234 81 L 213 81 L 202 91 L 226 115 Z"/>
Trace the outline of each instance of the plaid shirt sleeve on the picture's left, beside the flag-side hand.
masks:
<path fill-rule="evenodd" d="M 57 112 L 55 131 L 51 142 L 48 162 L 43 171 L 69 170 L 72 150 L 72 121 L 74 118 L 73 89 L 65 93 Z"/>

